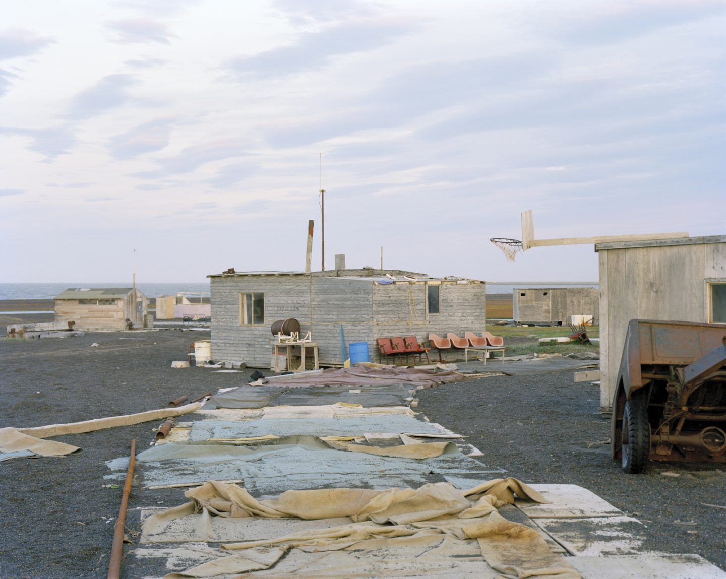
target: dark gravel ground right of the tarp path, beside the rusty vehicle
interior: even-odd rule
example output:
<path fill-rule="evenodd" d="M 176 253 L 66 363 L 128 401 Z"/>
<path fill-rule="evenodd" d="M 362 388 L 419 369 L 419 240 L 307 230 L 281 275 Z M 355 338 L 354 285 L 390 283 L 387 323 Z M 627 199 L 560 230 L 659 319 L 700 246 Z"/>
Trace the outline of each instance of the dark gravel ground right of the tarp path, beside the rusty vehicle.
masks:
<path fill-rule="evenodd" d="M 470 437 L 486 464 L 525 482 L 588 488 L 647 525 L 645 549 L 697 553 L 726 570 L 726 510 L 703 506 L 726 505 L 726 465 L 651 462 L 644 475 L 625 474 L 603 444 L 610 421 L 597 412 L 599 387 L 575 384 L 571 371 L 473 379 L 418 398 L 418 410 Z"/>

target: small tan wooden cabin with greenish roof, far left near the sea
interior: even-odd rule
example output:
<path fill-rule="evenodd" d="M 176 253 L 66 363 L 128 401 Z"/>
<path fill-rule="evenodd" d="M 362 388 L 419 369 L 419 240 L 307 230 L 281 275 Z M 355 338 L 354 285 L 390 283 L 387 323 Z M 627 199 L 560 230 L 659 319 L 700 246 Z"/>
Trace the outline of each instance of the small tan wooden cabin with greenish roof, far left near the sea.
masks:
<path fill-rule="evenodd" d="M 141 327 L 149 306 L 131 287 L 69 287 L 54 300 L 55 321 L 75 321 L 75 329 L 89 331 Z"/>

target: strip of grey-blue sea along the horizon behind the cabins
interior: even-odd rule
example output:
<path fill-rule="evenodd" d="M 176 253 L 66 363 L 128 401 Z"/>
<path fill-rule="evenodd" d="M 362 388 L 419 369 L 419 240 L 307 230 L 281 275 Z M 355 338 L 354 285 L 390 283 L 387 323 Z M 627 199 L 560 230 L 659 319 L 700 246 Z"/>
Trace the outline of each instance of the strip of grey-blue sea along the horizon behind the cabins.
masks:
<path fill-rule="evenodd" d="M 129 282 L 68 282 L 49 284 L 5 284 L 0 283 L 0 300 L 50 300 L 69 287 L 129 287 Z M 139 283 L 136 287 L 147 297 L 174 295 L 178 292 L 209 295 L 209 282 L 165 282 Z M 595 287 L 596 282 L 488 282 L 486 293 L 511 294 L 514 288 L 520 287 Z"/>

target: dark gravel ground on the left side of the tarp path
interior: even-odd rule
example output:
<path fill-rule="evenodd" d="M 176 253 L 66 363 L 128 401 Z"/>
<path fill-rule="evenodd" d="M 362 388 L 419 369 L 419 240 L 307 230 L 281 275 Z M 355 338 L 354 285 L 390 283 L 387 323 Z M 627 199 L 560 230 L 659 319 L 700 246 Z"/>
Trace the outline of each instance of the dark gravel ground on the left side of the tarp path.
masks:
<path fill-rule="evenodd" d="M 172 369 L 208 332 L 89 333 L 78 338 L 0 340 L 0 426 L 33 427 L 162 408 L 248 382 L 250 371 Z M 91 348 L 91 343 L 100 344 Z M 0 463 L 0 578 L 106 575 L 121 489 L 102 488 L 105 461 L 139 452 L 160 422 L 55 438 L 83 448 L 65 458 Z M 115 482 L 115 481 L 113 481 Z M 173 506 L 179 490 L 132 493 L 129 509 Z M 128 526 L 138 526 L 138 512 Z M 133 534 L 132 534 L 133 538 Z M 129 547 L 127 546 L 127 549 Z"/>

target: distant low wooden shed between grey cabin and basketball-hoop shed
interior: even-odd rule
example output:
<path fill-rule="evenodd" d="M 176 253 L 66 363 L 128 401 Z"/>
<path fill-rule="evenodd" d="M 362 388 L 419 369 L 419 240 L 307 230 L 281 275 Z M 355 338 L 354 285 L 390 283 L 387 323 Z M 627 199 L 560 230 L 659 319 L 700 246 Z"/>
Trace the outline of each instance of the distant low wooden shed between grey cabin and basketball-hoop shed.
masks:
<path fill-rule="evenodd" d="M 512 291 L 514 321 L 568 326 L 572 316 L 592 316 L 600 324 L 600 296 L 594 287 L 521 287 Z"/>

